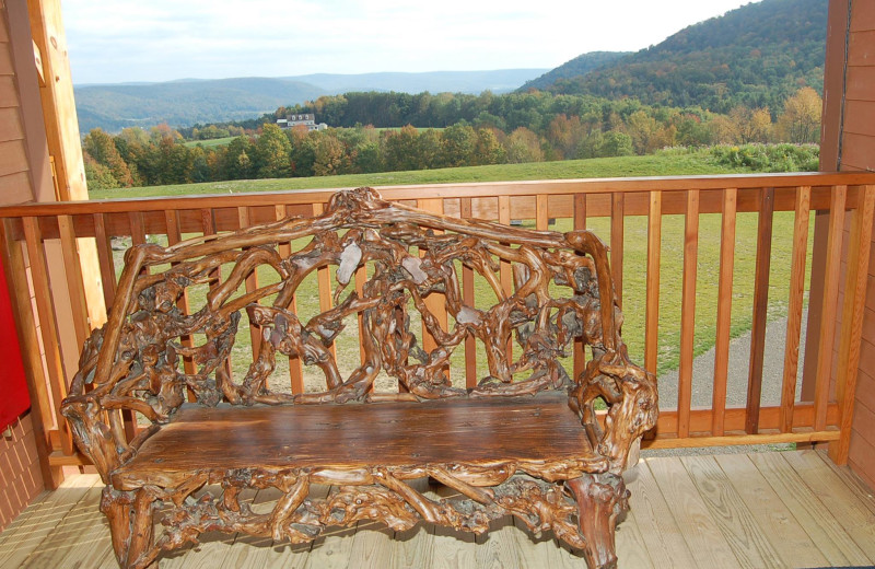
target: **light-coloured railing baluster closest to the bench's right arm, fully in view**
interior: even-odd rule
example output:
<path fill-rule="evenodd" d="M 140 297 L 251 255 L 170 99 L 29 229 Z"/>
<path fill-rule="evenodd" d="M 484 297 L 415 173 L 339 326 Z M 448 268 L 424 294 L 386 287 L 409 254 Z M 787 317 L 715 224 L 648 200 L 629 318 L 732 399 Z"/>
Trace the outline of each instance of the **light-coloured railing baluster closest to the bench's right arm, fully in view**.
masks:
<path fill-rule="evenodd" d="M 649 197 L 644 368 L 656 375 L 660 355 L 660 265 L 663 242 L 663 193 L 651 191 Z"/>

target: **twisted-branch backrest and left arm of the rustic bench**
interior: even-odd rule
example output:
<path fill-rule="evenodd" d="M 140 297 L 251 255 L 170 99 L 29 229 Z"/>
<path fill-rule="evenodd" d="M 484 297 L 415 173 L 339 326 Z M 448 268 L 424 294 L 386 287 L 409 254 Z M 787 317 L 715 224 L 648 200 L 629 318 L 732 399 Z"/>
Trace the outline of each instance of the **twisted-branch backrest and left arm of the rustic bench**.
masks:
<path fill-rule="evenodd" d="M 280 244 L 291 253 L 281 254 Z M 480 281 L 475 302 L 463 293 L 463 266 Z M 318 270 L 334 276 L 334 305 L 305 318 L 293 302 Z M 256 271 L 258 286 L 247 288 Z M 502 271 L 509 271 L 504 279 Z M 194 297 L 198 288 L 201 305 L 182 310 L 183 295 Z M 445 306 L 448 323 L 435 306 Z M 230 362 L 243 312 L 259 332 L 252 336 L 257 356 L 245 374 L 233 373 Z M 345 375 L 332 348 L 357 318 L 361 363 Z M 628 362 L 620 325 L 607 251 L 593 233 L 436 216 L 359 188 L 336 194 L 318 217 L 170 247 L 131 247 L 116 304 L 85 344 L 63 413 L 104 473 L 124 463 L 188 398 L 210 406 L 307 404 L 576 388 L 587 406 L 583 385 L 600 375 L 649 381 Z M 471 390 L 464 381 L 454 386 L 447 375 L 466 338 L 479 342 L 488 364 Z M 570 379 L 560 359 L 575 338 L 591 346 L 596 364 Z M 278 352 L 317 367 L 324 384 L 299 394 L 278 388 L 270 381 Z M 605 365 L 614 368 L 606 372 Z M 375 392 L 381 372 L 400 390 Z M 617 384 L 600 391 L 602 398 L 616 399 L 622 390 Z M 655 391 L 645 398 L 654 399 Z M 130 440 L 125 409 L 152 427 Z"/>

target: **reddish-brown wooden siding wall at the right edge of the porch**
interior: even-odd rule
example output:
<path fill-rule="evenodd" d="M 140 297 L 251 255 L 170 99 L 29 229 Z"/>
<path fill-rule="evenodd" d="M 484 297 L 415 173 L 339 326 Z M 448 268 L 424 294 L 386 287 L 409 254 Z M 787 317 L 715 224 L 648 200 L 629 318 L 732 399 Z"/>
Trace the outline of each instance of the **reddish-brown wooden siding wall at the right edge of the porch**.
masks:
<path fill-rule="evenodd" d="M 838 165 L 842 171 L 871 171 L 875 169 L 875 2 L 831 0 L 829 18 L 821 167 L 836 170 Z M 844 60 L 845 40 L 847 60 Z M 838 55 L 841 57 L 837 60 Z M 838 149 L 830 140 L 833 132 L 838 132 Z M 873 378 L 875 378 L 875 264 L 870 262 L 866 305 L 863 314 L 863 341 L 860 348 L 853 426 L 848 453 L 848 463 L 870 487 L 875 487 L 875 380 Z"/>

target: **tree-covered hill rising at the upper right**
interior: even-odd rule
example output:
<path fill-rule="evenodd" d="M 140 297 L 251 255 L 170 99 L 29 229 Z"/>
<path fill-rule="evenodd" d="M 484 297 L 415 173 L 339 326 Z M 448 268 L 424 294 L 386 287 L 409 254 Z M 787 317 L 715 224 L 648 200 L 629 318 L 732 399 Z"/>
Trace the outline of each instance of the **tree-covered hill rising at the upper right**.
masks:
<path fill-rule="evenodd" d="M 800 86 L 822 88 L 827 5 L 828 0 L 762 0 L 583 73 L 573 72 L 580 58 L 572 59 L 535 83 L 556 93 L 721 113 L 737 104 L 780 109 Z"/>

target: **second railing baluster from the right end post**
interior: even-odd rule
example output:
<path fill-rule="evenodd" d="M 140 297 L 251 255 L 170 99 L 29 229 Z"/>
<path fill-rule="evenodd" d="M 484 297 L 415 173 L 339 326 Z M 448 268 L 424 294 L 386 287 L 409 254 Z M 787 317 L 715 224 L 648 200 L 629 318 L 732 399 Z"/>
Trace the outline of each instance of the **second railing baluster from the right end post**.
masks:
<path fill-rule="evenodd" d="M 784 341 L 784 376 L 781 386 L 781 432 L 793 430 L 793 410 L 796 405 L 796 374 L 800 361 L 800 332 L 805 294 L 805 262 L 808 253 L 808 222 L 810 218 L 812 188 L 796 188 L 796 214 L 793 224 L 793 253 L 790 265 L 790 297 Z"/>

